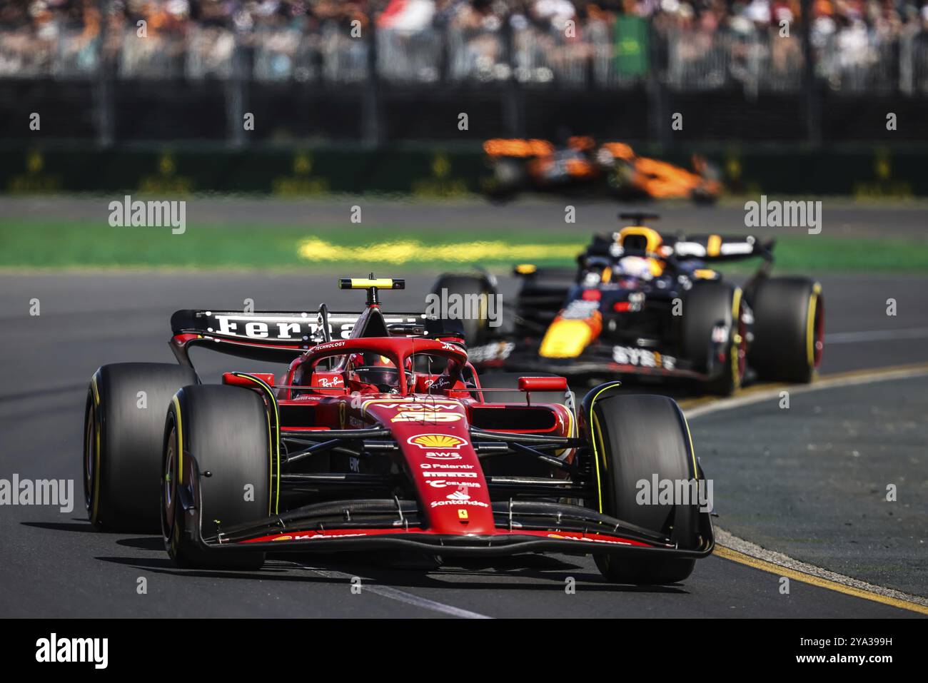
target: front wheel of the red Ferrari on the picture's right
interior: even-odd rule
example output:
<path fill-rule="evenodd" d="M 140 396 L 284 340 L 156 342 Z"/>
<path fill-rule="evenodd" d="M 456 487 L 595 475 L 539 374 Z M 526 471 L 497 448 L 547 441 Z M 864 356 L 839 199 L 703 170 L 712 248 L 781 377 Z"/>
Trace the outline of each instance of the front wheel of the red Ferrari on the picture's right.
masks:
<path fill-rule="evenodd" d="M 698 503 L 638 504 L 639 481 L 651 483 L 655 476 L 675 483 L 698 480 L 690 430 L 677 403 L 666 396 L 613 393 L 585 401 L 587 409 L 592 414 L 587 437 L 595 447 L 599 481 L 599 500 L 591 507 L 598 505 L 603 514 L 668 535 L 678 548 L 699 548 Z M 623 584 L 677 583 L 695 565 L 694 560 L 651 556 L 594 558 L 603 576 Z"/>

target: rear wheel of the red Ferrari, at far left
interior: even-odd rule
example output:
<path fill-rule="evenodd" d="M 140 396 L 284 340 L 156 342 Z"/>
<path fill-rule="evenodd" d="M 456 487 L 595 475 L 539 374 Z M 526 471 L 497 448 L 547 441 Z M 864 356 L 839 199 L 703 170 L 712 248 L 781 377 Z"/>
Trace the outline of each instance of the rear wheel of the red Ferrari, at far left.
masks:
<path fill-rule="evenodd" d="M 115 363 L 90 380 L 84 408 L 84 505 L 99 529 L 157 534 L 164 410 L 197 382 L 192 368 Z"/>

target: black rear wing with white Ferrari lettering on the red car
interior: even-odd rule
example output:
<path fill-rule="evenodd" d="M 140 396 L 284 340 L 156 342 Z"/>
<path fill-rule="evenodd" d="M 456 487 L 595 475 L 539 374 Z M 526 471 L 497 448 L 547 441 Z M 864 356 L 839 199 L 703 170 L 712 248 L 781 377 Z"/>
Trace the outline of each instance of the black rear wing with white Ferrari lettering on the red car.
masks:
<path fill-rule="evenodd" d="M 180 310 L 171 316 L 171 351 L 181 365 L 192 367 L 194 346 L 241 358 L 290 363 L 317 343 L 348 339 L 361 314 L 329 312 L 323 305 L 308 311 Z M 439 336 L 449 323 L 422 313 L 383 314 L 386 333 L 396 336 Z M 453 327 L 453 326 L 452 326 Z M 450 333 L 454 333 L 452 330 Z"/>

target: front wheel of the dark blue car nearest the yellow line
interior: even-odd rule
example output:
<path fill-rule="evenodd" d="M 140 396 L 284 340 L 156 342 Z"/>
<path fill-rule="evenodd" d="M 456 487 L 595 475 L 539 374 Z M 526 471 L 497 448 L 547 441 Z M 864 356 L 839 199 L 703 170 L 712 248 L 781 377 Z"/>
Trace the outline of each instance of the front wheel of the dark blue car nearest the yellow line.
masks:
<path fill-rule="evenodd" d="M 709 375 L 708 393 L 741 387 L 747 352 L 741 290 L 728 282 L 700 282 L 683 302 L 683 350 L 693 369 Z"/>

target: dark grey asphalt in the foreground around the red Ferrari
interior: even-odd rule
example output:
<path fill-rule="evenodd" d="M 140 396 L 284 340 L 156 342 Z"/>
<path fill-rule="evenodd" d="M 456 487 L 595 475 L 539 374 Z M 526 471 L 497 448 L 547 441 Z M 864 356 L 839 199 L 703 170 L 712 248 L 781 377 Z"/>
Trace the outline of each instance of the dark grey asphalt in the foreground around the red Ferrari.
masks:
<path fill-rule="evenodd" d="M 431 277 L 421 275 L 409 278 L 406 291 L 383 295 L 386 306 L 419 307 L 431 281 Z M 928 361 L 928 295 L 924 279 L 823 277 L 822 283 L 827 297 L 828 334 L 836 340 L 827 347 L 823 374 Z M 504 282 L 504 288 L 510 287 L 511 283 Z M 0 386 L 0 478 L 9 479 L 15 472 L 21 478 L 73 479 L 74 496 L 83 500 L 79 488 L 82 412 L 91 373 L 105 363 L 170 362 L 173 358 L 166 343 L 170 334 L 168 319 L 175 309 L 238 308 L 246 298 L 253 299 L 258 309 L 301 310 L 323 300 L 336 310 L 356 310 L 361 304 L 359 293 L 335 290 L 335 277 L 328 276 L 0 274 L 0 367 L 4 378 Z M 896 299 L 895 317 L 885 314 L 887 298 Z M 41 302 L 40 316 L 29 316 L 32 299 Z M 194 362 L 206 381 L 216 380 L 222 369 L 251 369 L 232 357 L 197 353 Z M 914 383 L 907 391 L 921 401 L 923 408 L 925 383 Z M 840 406 L 850 397 L 841 391 L 816 396 L 812 405 L 818 401 L 825 407 L 823 417 L 811 410 L 804 412 L 805 399 L 796 396 L 790 414 L 806 422 L 826 420 L 831 432 L 842 432 Z M 855 393 L 853 399 L 855 429 L 861 431 L 868 428 L 868 406 L 896 401 L 888 386 L 873 403 L 866 391 Z M 892 471 L 873 470 L 871 463 L 871 469 L 857 477 L 867 486 L 898 481 L 900 499 L 904 494 L 911 506 L 904 516 L 909 520 L 912 514 L 921 512 L 922 528 L 910 520 L 905 528 L 894 526 L 898 522 L 870 520 L 865 529 L 867 540 L 885 534 L 892 548 L 873 543 L 858 548 L 865 551 L 855 554 L 848 546 L 857 538 L 857 530 L 844 526 L 840 510 L 832 511 L 818 526 L 809 516 L 810 510 L 793 509 L 787 505 L 789 501 L 783 503 L 788 509 L 779 509 L 780 500 L 773 497 L 765 501 L 765 509 L 774 510 L 771 514 L 776 523 L 771 526 L 768 517 L 763 523 L 751 519 L 745 500 L 750 499 L 752 491 L 738 472 L 736 458 L 754 461 L 763 457 L 763 450 L 754 452 L 759 446 L 754 445 L 754 450 L 741 448 L 752 441 L 760 443 L 750 429 L 758 419 L 763 421 L 763 416 L 758 417 L 756 407 L 744 410 L 746 419 L 741 423 L 731 419 L 734 413 L 716 413 L 704 422 L 693 420 L 697 454 L 711 476 L 715 476 L 717 465 L 722 479 L 721 490 L 715 492 L 715 505 L 722 514 L 717 522 L 725 527 L 730 512 L 731 530 L 749 540 L 754 540 L 752 534 L 757 533 L 770 548 L 795 551 L 806 561 L 820 561 L 827 569 L 924 595 L 923 569 L 919 573 L 919 567 L 926 563 L 923 521 L 928 487 L 923 414 L 921 431 L 911 428 L 907 432 L 912 443 L 906 455 L 896 455 Z M 911 411 L 906 417 L 909 421 L 918 419 Z M 745 425 L 753 426 L 749 429 Z M 818 444 L 814 426 L 793 429 L 781 424 L 779 432 L 767 433 L 763 438 L 777 441 L 783 457 L 790 457 L 791 451 Z M 833 442 L 839 437 L 842 452 L 856 443 L 851 432 L 829 433 L 822 438 Z M 894 435 L 883 433 L 883 438 Z M 880 456 L 879 452 L 867 455 L 876 459 Z M 780 477 L 782 488 L 771 495 L 785 491 L 800 498 L 803 491 L 809 490 L 808 471 L 791 466 L 795 463 L 774 464 L 778 466 L 771 468 L 771 474 Z M 753 467 L 767 465 L 754 462 Z M 857 481 L 844 477 L 839 470 L 832 470 L 831 476 L 840 480 L 840 486 L 853 486 Z M 726 492 L 729 487 L 733 487 L 730 496 Z M 870 488 L 866 493 L 870 495 Z M 811 512 L 827 508 L 827 503 L 827 499 L 819 501 Z M 808 548 L 802 548 L 802 539 L 810 534 L 816 535 L 827 552 L 803 555 Z M 350 590 L 354 576 L 362 578 L 360 595 Z M 144 595 L 136 592 L 140 577 L 147 580 L 148 592 Z M 565 593 L 567 577 L 576 581 L 573 595 Z M 797 581 L 793 581 L 790 594 L 784 596 L 779 591 L 779 578 L 776 573 L 720 556 L 698 562 L 684 584 L 658 588 L 606 584 L 591 559 L 563 555 L 497 561 L 494 567 L 469 565 L 437 571 L 377 562 L 349 563 L 337 557 L 281 556 L 268 561 L 259 573 L 184 571 L 169 561 L 159 537 L 93 531 L 79 504 L 68 513 L 49 507 L 0 507 L 0 613 L 10 616 L 918 615 L 891 604 Z"/>

